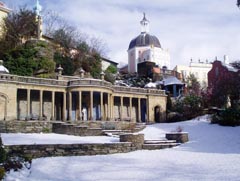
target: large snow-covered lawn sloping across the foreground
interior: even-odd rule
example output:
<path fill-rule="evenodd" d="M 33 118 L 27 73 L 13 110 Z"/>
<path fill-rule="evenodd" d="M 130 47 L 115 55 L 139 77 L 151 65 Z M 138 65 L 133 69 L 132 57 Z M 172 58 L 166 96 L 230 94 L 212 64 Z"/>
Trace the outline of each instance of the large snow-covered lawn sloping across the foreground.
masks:
<path fill-rule="evenodd" d="M 142 132 L 147 139 L 158 139 L 178 126 L 189 132 L 190 141 L 175 148 L 39 158 L 30 170 L 12 171 L 6 180 L 240 180 L 240 127 L 211 125 L 204 116 L 150 125 Z"/>

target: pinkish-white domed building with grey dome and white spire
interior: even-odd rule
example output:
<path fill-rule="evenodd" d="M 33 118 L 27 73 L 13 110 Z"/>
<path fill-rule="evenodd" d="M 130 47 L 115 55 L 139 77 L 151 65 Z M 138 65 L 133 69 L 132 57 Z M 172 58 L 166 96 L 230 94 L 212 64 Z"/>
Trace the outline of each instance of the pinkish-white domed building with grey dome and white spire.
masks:
<path fill-rule="evenodd" d="M 170 67 L 170 54 L 164 50 L 158 38 L 149 34 L 149 21 L 144 13 L 141 34 L 130 41 L 128 47 L 128 72 L 138 72 L 137 65 L 142 62 L 154 62 L 159 67 Z"/>

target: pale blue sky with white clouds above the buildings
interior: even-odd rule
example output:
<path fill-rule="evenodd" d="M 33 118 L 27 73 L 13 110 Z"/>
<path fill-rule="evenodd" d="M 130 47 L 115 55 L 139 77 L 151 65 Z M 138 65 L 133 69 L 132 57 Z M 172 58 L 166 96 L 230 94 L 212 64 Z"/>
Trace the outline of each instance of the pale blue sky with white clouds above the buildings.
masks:
<path fill-rule="evenodd" d="M 36 0 L 2 0 L 9 8 Z M 141 31 L 143 12 L 150 21 L 150 34 L 168 49 L 171 67 L 194 62 L 240 59 L 240 9 L 237 0 L 39 0 L 81 32 L 106 43 L 107 58 L 128 62 L 130 41 Z M 43 20 L 44 21 L 44 20 Z"/>

